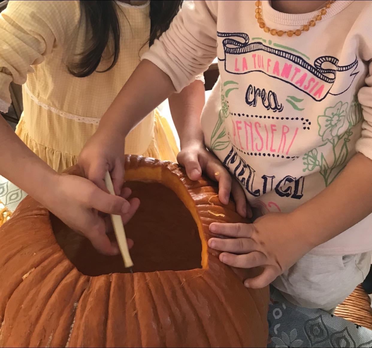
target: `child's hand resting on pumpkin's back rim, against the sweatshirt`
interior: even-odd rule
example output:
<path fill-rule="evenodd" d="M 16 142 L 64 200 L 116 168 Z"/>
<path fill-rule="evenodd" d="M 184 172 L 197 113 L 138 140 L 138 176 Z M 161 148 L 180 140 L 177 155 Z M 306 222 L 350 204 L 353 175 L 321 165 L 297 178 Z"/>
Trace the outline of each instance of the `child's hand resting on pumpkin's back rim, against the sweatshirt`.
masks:
<path fill-rule="evenodd" d="M 195 141 L 184 146 L 177 156 L 177 161 L 185 167 L 187 176 L 191 180 L 199 180 L 203 172 L 212 180 L 218 181 L 218 197 L 221 203 L 228 204 L 231 192 L 238 214 L 242 217 L 252 216 L 241 185 L 231 177 L 222 163 L 206 149 L 203 143 Z"/>

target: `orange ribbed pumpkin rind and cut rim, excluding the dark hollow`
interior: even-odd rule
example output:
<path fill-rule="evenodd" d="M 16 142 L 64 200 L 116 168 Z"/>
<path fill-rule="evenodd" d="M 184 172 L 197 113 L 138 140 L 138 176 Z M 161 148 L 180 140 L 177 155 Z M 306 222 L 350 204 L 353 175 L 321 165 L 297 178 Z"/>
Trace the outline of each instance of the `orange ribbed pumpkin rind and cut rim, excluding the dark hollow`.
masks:
<path fill-rule="evenodd" d="M 127 156 L 125 172 L 177 193 L 199 227 L 202 268 L 85 276 L 57 244 L 47 209 L 26 197 L 0 228 L 0 346 L 266 347 L 268 288 L 243 285 L 258 270 L 222 264 L 206 243 L 212 222 L 243 222 L 234 204 L 170 162 Z"/>

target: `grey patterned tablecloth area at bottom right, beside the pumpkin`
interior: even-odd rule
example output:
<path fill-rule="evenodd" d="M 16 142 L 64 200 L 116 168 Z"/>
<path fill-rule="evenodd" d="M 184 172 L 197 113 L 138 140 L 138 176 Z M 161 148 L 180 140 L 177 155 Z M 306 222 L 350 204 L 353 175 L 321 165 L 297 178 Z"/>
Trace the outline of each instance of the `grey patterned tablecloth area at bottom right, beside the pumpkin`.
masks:
<path fill-rule="evenodd" d="M 301 308 L 271 288 L 267 347 L 372 347 L 372 331 L 320 309 Z"/>

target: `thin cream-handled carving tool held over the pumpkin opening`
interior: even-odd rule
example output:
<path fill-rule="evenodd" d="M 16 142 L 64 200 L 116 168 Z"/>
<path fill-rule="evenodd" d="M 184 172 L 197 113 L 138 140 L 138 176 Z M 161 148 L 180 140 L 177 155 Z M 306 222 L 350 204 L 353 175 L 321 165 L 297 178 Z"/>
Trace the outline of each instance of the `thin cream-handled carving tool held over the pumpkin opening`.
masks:
<path fill-rule="evenodd" d="M 112 195 L 115 195 L 114 186 L 112 185 L 112 180 L 109 172 L 105 175 L 106 187 Z M 126 236 L 124 230 L 123 220 L 120 215 L 110 214 L 112 226 L 115 232 L 116 240 L 118 241 L 119 249 L 124 260 L 124 266 L 129 268 L 129 271 L 133 273 L 133 261 L 131 255 L 129 254 L 128 244 L 126 243 Z"/>

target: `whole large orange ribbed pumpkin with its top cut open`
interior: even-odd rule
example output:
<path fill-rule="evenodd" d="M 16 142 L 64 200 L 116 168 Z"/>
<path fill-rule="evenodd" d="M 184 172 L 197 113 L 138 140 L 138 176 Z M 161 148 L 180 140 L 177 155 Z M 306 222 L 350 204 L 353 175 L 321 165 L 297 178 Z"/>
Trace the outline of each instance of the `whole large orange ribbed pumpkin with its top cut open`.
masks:
<path fill-rule="evenodd" d="M 268 288 L 243 284 L 259 270 L 207 245 L 211 222 L 244 221 L 234 204 L 170 162 L 127 156 L 125 178 L 141 200 L 133 274 L 31 197 L 1 227 L 0 346 L 266 347 Z"/>

